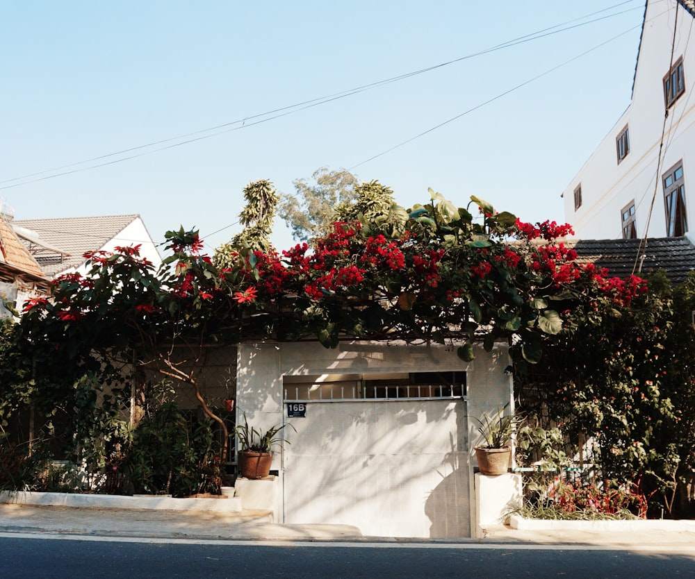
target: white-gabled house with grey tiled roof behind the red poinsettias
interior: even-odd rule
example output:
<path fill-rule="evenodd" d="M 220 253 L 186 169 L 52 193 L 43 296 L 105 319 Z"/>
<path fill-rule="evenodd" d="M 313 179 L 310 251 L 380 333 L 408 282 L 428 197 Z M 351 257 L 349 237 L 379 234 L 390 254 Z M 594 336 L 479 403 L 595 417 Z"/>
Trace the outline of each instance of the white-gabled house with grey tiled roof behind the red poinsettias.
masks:
<path fill-rule="evenodd" d="M 115 251 L 117 246 L 140 246 L 140 255 L 154 267 L 161 255 L 140 215 L 15 219 L 15 234 L 33 255 L 45 275 L 86 274 L 84 254 Z"/>

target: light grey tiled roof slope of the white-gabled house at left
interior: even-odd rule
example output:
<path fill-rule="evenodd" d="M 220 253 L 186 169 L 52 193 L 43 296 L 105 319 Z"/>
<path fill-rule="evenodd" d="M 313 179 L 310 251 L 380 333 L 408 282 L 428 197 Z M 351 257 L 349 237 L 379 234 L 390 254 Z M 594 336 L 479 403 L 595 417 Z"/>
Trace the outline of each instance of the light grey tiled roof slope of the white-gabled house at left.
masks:
<path fill-rule="evenodd" d="M 58 219 L 15 219 L 13 225 L 37 233 L 47 245 L 69 255 L 60 255 L 31 242 L 24 241 L 33 253 L 44 274 L 54 277 L 60 272 L 79 267 L 85 262 L 83 255 L 98 251 L 109 240 L 129 226 L 139 215 L 107 215 L 104 217 L 63 217 Z M 124 245 L 128 243 L 124 240 Z"/>

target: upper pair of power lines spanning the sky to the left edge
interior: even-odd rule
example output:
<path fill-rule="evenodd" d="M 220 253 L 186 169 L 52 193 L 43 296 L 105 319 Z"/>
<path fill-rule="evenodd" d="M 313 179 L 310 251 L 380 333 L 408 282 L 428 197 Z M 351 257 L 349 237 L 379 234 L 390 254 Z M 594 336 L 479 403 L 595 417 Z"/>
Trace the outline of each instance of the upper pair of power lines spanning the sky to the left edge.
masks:
<path fill-rule="evenodd" d="M 165 151 L 165 150 L 167 150 L 167 149 L 173 149 L 174 147 L 183 146 L 184 144 L 190 144 L 190 143 L 193 143 L 193 142 L 197 142 L 197 141 L 199 141 L 199 140 L 204 140 L 204 139 L 208 139 L 208 138 L 211 138 L 211 137 L 216 137 L 216 136 L 218 136 L 218 135 L 222 135 L 222 134 L 224 134 L 224 133 L 229 133 L 229 132 L 231 132 L 231 131 L 239 131 L 239 130 L 242 129 L 242 128 L 248 128 L 248 127 L 254 126 L 254 125 L 256 125 L 256 124 L 261 124 L 261 123 L 264 123 L 264 122 L 272 121 L 272 120 L 274 120 L 274 119 L 278 119 L 279 117 L 284 117 L 284 116 L 286 116 L 286 115 L 291 115 L 291 114 L 293 114 L 294 112 L 299 112 L 299 111 L 301 111 L 301 110 L 306 110 L 307 108 L 313 108 L 314 106 L 318 106 L 318 105 L 321 105 L 321 104 L 325 104 L 325 103 L 329 103 L 329 102 L 332 102 L 332 101 L 336 101 L 336 100 L 338 100 L 338 99 L 343 99 L 343 98 L 345 98 L 345 97 L 350 97 L 350 96 L 352 96 L 352 95 L 354 95 L 354 94 L 359 94 L 360 92 L 364 92 L 364 91 L 366 91 L 366 90 L 373 90 L 373 89 L 375 89 L 375 88 L 377 88 L 377 87 L 382 87 L 382 86 L 384 86 L 384 85 L 388 85 L 388 84 L 391 84 L 391 83 L 395 83 L 395 82 L 398 82 L 398 81 L 402 81 L 402 80 L 404 80 L 405 78 L 410 78 L 411 76 L 416 76 L 416 75 L 424 74 L 425 72 L 431 72 L 432 70 L 439 69 L 439 68 L 441 68 L 441 67 L 445 67 L 445 66 L 448 66 L 448 65 L 452 65 L 452 64 L 455 64 L 456 62 L 461 62 L 461 61 L 463 61 L 463 60 L 468 60 L 468 59 L 471 59 L 471 58 L 475 58 L 475 57 L 477 57 L 477 56 L 482 56 L 482 55 L 484 55 L 484 54 L 491 53 L 491 52 L 493 52 L 493 51 L 498 51 L 498 50 L 502 50 L 502 49 L 505 49 L 505 48 L 513 47 L 513 46 L 516 46 L 516 45 L 518 45 L 518 44 L 523 44 L 523 43 L 525 43 L 525 42 L 530 42 L 531 40 L 537 40 L 537 39 L 542 38 L 542 37 L 546 37 L 546 36 L 549 36 L 549 35 L 554 35 L 554 34 L 557 34 L 557 33 L 564 32 L 564 31 L 569 31 L 569 30 L 572 30 L 573 28 L 578 28 L 579 26 L 586 26 L 587 24 L 593 24 L 594 22 L 599 22 L 600 20 L 604 20 L 604 19 L 611 18 L 611 17 L 617 16 L 617 15 L 621 15 L 621 14 L 624 14 L 625 12 L 629 12 L 630 10 L 635 10 L 635 8 L 629 8 L 629 9 L 627 9 L 627 10 L 622 10 L 621 12 L 614 12 L 614 13 L 612 13 L 612 14 L 610 14 L 610 15 L 604 15 L 604 16 L 598 17 L 598 18 L 596 18 L 596 19 L 591 19 L 591 20 L 588 20 L 588 21 L 586 21 L 586 22 L 581 22 L 580 24 L 574 24 L 573 26 L 566 26 L 567 24 L 572 24 L 573 22 L 582 21 L 582 20 L 587 19 L 587 18 L 590 18 L 590 17 L 592 17 L 592 16 L 601 14 L 602 12 L 607 12 L 608 10 L 613 10 L 614 8 L 619 8 L 619 6 L 623 6 L 623 5 L 625 5 L 625 4 L 631 3 L 632 1 L 635 1 L 635 0 L 626 0 L 626 1 L 623 1 L 623 2 L 620 2 L 620 3 L 615 4 L 614 6 L 610 6 L 609 8 L 604 8 L 603 10 L 598 10 L 598 11 L 596 11 L 596 12 L 591 12 L 591 13 L 588 14 L 588 15 L 584 15 L 584 16 L 582 16 L 582 17 L 575 18 L 575 19 L 569 20 L 569 21 L 567 21 L 567 22 L 563 22 L 562 24 L 556 24 L 555 26 L 551 26 L 550 28 L 543 28 L 543 29 L 540 30 L 540 31 L 536 31 L 536 32 L 534 32 L 534 33 L 530 33 L 530 34 L 527 34 L 527 35 L 523 35 L 523 36 L 517 37 L 517 38 L 515 38 L 515 39 L 513 39 L 513 40 L 509 40 L 509 41 L 507 41 L 507 42 L 503 42 L 502 44 L 497 44 L 496 46 L 489 47 L 489 48 L 487 48 L 487 49 L 484 49 L 484 50 L 481 50 L 481 51 L 478 51 L 478 52 L 475 52 L 475 53 L 468 54 L 467 56 L 461 56 L 460 58 L 455 58 L 455 59 L 453 59 L 453 60 L 448 60 L 447 62 L 441 62 L 441 63 L 438 64 L 438 65 L 433 65 L 433 66 L 426 67 L 426 68 L 423 68 L 423 69 L 419 69 L 419 70 L 416 70 L 416 71 L 413 71 L 413 72 L 408 72 L 408 73 L 406 73 L 406 74 L 402 74 L 402 75 L 399 75 L 399 76 L 393 76 L 393 77 L 391 77 L 391 78 L 386 78 L 386 79 L 384 79 L 384 80 L 382 80 L 382 81 L 377 81 L 377 82 L 375 82 L 375 83 L 370 83 L 370 84 L 367 84 L 367 85 L 361 85 L 361 86 L 359 86 L 359 87 L 355 87 L 355 88 L 352 88 L 352 89 L 350 89 L 350 90 L 345 90 L 345 91 L 343 91 L 343 92 L 337 92 L 337 93 L 334 93 L 334 94 L 329 94 L 329 95 L 327 95 L 327 96 L 318 97 L 318 98 L 316 98 L 316 99 L 311 99 L 311 100 L 308 100 L 308 101 L 302 101 L 302 102 L 300 102 L 300 103 L 295 103 L 295 104 L 293 104 L 293 105 L 288 105 L 288 106 L 284 106 L 284 107 L 277 108 L 277 109 L 274 109 L 274 110 L 270 110 L 270 111 L 267 111 L 267 112 L 262 112 L 262 113 L 259 113 L 259 114 L 257 114 L 257 115 L 252 115 L 252 116 L 250 116 L 250 117 L 244 117 L 243 119 L 238 119 L 238 120 L 236 120 L 236 121 L 230 121 L 230 122 L 227 122 L 227 123 L 224 123 L 224 124 L 220 124 L 220 125 L 216 125 L 216 126 L 213 126 L 213 127 L 210 127 L 210 128 L 202 129 L 202 130 L 200 130 L 200 131 L 194 131 L 193 133 L 186 133 L 186 134 L 184 134 L 184 135 L 179 135 L 179 136 L 177 136 L 177 137 L 170 137 L 170 138 L 167 138 L 167 139 L 158 140 L 158 141 L 150 142 L 150 143 L 147 143 L 147 144 L 142 144 L 142 145 L 139 145 L 139 146 L 133 146 L 133 147 L 131 147 L 131 148 L 129 148 L 129 149 L 122 149 L 121 151 L 116 151 L 116 152 L 114 152 L 114 153 L 108 153 L 108 154 L 106 154 L 106 155 L 101 155 L 101 156 L 97 156 L 97 157 L 92 157 L 92 158 L 90 158 L 90 159 L 82 160 L 82 161 L 79 161 L 79 162 L 70 163 L 70 164 L 68 164 L 68 165 L 61 165 L 60 167 L 54 167 L 53 169 L 45 169 L 44 171 L 37 171 L 37 172 L 31 173 L 31 174 L 26 174 L 26 175 L 23 175 L 23 176 L 18 176 L 18 177 L 11 178 L 11 179 L 6 179 L 6 180 L 4 180 L 4 181 L 0 181 L 0 184 L 2 184 L 2 183 L 13 183 L 13 182 L 15 182 L 15 181 L 21 181 L 22 179 L 30 179 L 31 177 L 38 177 L 38 176 L 40 176 L 40 175 L 44 175 L 44 174 L 47 174 L 47 173 L 51 173 L 50 175 L 43 176 L 43 177 L 38 177 L 38 178 L 34 178 L 34 179 L 30 179 L 29 181 L 22 181 L 22 183 L 13 183 L 13 184 L 11 184 L 11 185 L 4 185 L 3 187 L 0 187 L 0 190 L 10 189 L 10 188 L 13 188 L 13 187 L 20 187 L 20 186 L 22 186 L 22 185 L 28 185 L 29 183 L 36 183 L 36 182 L 38 182 L 38 181 L 45 181 L 45 180 L 47 180 L 47 179 L 56 178 L 56 177 L 60 177 L 60 176 L 65 176 L 65 175 L 70 175 L 70 174 L 78 173 L 78 172 L 81 172 L 81 171 L 87 171 L 87 170 L 90 170 L 90 169 L 97 169 L 98 167 L 105 167 L 105 166 L 107 166 L 107 165 L 113 165 L 113 164 L 115 164 L 115 163 L 123 162 L 123 161 L 126 161 L 126 160 L 131 160 L 131 159 L 138 158 L 138 157 L 141 157 L 141 156 L 150 155 L 150 154 L 152 154 L 152 153 L 157 153 L 157 152 L 160 152 L 160 151 Z M 566 27 L 565 27 L 565 28 L 561 28 L 562 26 L 566 26 Z M 558 28 L 558 29 L 555 30 L 556 28 Z M 501 96 L 501 95 L 500 95 L 500 96 Z M 481 106 L 482 106 L 482 105 L 481 105 Z M 475 109 L 473 109 L 473 110 L 475 110 Z M 465 114 L 465 113 L 464 113 L 464 114 Z M 460 115 L 459 115 L 459 116 L 460 116 Z M 266 117 L 266 118 L 263 118 L 263 117 Z M 253 119 L 256 119 L 256 120 L 254 120 L 254 122 L 247 123 L 247 121 L 250 121 L 250 120 L 253 120 Z M 451 120 L 454 120 L 454 119 L 451 119 Z M 240 124 L 240 126 L 238 126 L 239 124 Z M 437 127 L 435 127 L 435 128 L 437 128 Z M 224 130 L 223 130 L 223 131 L 219 131 L 219 129 L 224 129 Z M 431 129 L 431 130 L 434 130 L 434 128 Z M 216 133 L 211 133 L 211 131 L 217 131 L 217 132 L 216 132 Z M 427 132 L 429 132 L 429 131 L 427 131 Z M 205 133 L 211 133 L 211 134 L 205 134 Z M 423 134 L 425 134 L 425 133 L 423 133 Z M 196 136 L 196 135 L 199 135 L 199 136 Z M 420 136 L 420 135 L 418 135 L 418 136 Z M 188 138 L 188 137 L 193 137 L 193 138 Z M 417 137 L 414 137 L 414 138 L 417 138 Z M 186 139 L 186 140 L 184 140 L 184 141 L 182 141 L 182 142 L 175 142 L 175 143 L 173 143 L 173 144 L 169 144 L 169 145 L 167 145 L 167 146 L 163 146 L 163 147 L 160 147 L 160 148 L 158 148 L 158 149 L 154 149 L 154 150 L 152 150 L 152 151 L 145 151 L 145 152 L 135 153 L 135 154 L 133 154 L 133 155 L 129 155 L 129 156 L 126 156 L 126 157 L 117 158 L 117 159 L 115 159 L 115 160 L 109 160 L 109 161 L 100 162 L 100 163 L 97 163 L 96 165 L 90 165 L 89 167 L 79 167 L 79 165 L 85 165 L 85 163 L 94 162 L 94 161 L 99 161 L 99 160 L 104 160 L 104 159 L 107 159 L 107 158 L 110 158 L 110 157 L 122 155 L 122 154 L 124 154 L 124 153 L 132 153 L 132 152 L 134 152 L 134 151 L 142 151 L 142 149 L 148 149 L 149 147 L 152 147 L 152 146 L 157 146 L 157 145 L 165 144 L 165 143 L 171 143 L 171 142 L 174 142 L 174 141 L 179 141 L 179 140 L 181 140 L 181 139 Z M 400 146 L 400 145 L 399 145 L 399 146 Z M 385 151 L 384 153 L 381 153 L 381 154 L 385 154 L 386 152 L 388 152 L 388 151 Z M 380 155 L 379 155 L 379 156 L 380 156 Z M 78 168 L 76 168 L 76 169 L 71 169 L 71 170 L 69 170 L 69 171 L 62 171 L 62 169 L 70 169 L 70 167 L 78 167 Z M 54 173 L 54 171 L 61 171 L 61 172 L 59 172 L 59 173 Z"/>

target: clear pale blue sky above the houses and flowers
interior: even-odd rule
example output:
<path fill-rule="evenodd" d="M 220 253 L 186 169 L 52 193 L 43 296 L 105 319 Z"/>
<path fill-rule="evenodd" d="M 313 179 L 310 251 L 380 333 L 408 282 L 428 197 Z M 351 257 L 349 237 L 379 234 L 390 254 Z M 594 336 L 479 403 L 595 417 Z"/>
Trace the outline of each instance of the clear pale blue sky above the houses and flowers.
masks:
<path fill-rule="evenodd" d="M 327 166 L 405 206 L 432 187 L 564 221 L 562 190 L 630 102 L 643 15 L 644 0 L 5 2 L 0 197 L 17 219 L 139 213 L 156 242 L 183 225 L 213 248 L 247 183 L 293 193 Z M 273 239 L 293 244 L 279 219 Z"/>

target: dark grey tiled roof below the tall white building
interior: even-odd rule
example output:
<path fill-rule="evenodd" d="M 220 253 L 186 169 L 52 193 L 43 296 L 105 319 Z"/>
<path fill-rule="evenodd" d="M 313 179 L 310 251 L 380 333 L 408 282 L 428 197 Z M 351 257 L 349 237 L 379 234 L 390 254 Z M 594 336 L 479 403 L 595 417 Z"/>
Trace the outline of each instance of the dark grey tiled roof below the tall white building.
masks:
<path fill-rule="evenodd" d="M 687 237 L 653 237 L 640 249 L 641 240 L 571 240 L 566 246 L 578 254 L 578 262 L 606 267 L 612 276 L 646 276 L 664 270 L 673 283 L 685 280 L 695 269 L 695 245 Z M 644 261 L 641 260 L 644 255 Z M 641 262 L 641 274 L 639 263 Z M 637 267 L 635 267 L 637 263 Z"/>

